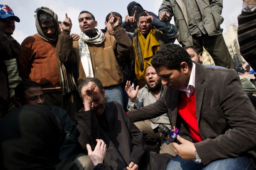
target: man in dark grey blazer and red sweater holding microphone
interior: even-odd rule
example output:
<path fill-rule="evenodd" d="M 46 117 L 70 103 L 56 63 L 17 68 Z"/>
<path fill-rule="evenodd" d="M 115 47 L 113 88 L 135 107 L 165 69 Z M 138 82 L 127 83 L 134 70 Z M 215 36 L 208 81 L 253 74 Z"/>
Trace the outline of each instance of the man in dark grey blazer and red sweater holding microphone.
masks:
<path fill-rule="evenodd" d="M 128 116 L 136 122 L 169 112 L 180 135 L 179 144 L 172 143 L 178 156 L 167 169 L 256 168 L 256 111 L 236 71 L 193 63 L 176 44 L 163 46 L 152 65 L 164 95 Z"/>

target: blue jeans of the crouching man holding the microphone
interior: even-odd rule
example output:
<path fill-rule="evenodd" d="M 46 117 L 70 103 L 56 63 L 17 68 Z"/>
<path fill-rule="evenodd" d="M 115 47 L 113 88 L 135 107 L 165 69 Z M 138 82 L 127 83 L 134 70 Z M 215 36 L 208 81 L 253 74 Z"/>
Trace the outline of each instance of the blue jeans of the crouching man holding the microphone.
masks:
<path fill-rule="evenodd" d="M 180 156 L 176 156 L 167 165 L 166 170 L 254 170 L 249 159 L 244 156 L 237 158 L 227 158 L 213 161 L 206 167 L 196 163 L 195 160 L 185 161 Z"/>

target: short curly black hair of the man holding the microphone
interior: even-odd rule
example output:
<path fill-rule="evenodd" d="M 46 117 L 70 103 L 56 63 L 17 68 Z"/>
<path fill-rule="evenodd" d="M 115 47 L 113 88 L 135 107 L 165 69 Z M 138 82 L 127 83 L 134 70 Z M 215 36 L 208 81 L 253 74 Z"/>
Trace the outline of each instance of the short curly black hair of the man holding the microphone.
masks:
<path fill-rule="evenodd" d="M 180 63 L 186 62 L 192 69 L 192 60 L 189 53 L 180 45 L 168 43 L 159 49 L 151 61 L 152 66 L 156 69 L 165 66 L 167 69 L 175 69 L 180 72 Z"/>

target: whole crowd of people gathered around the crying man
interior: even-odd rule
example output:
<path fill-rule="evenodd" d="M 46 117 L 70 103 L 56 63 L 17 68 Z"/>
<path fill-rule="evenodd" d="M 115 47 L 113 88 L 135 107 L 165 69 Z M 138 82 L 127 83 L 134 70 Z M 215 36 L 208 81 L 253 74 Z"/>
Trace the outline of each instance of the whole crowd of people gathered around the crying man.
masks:
<path fill-rule="evenodd" d="M 239 44 L 254 66 L 256 0 L 243 1 Z M 70 34 L 68 14 L 42 6 L 19 44 L 22 21 L 0 4 L 0 169 L 256 169 L 256 88 L 236 72 L 222 7 L 163 0 L 157 16 L 133 1 L 105 29 L 81 11 Z M 179 131 L 171 144 L 165 126 Z"/>

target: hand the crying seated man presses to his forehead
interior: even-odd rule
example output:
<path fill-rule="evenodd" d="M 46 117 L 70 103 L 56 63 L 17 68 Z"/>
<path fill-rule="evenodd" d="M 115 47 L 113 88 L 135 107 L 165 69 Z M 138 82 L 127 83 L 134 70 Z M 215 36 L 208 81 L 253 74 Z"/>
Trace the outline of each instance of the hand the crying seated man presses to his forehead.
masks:
<path fill-rule="evenodd" d="M 86 86 L 83 86 L 81 89 L 81 96 L 84 102 L 84 111 L 92 109 L 93 103 L 93 91 L 96 88 L 96 84 L 89 82 Z"/>

